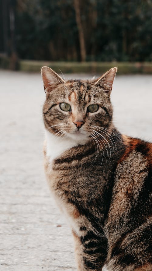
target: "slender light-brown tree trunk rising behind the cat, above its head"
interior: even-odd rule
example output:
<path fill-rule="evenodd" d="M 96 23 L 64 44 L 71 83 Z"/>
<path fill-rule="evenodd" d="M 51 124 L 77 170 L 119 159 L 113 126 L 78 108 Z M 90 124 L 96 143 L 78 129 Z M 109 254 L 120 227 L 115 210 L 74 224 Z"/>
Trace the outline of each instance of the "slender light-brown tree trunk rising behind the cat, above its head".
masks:
<path fill-rule="evenodd" d="M 86 60 L 85 38 L 84 38 L 83 27 L 81 23 L 79 0 L 74 0 L 74 9 L 75 9 L 76 22 L 78 26 L 81 61 L 85 61 Z"/>

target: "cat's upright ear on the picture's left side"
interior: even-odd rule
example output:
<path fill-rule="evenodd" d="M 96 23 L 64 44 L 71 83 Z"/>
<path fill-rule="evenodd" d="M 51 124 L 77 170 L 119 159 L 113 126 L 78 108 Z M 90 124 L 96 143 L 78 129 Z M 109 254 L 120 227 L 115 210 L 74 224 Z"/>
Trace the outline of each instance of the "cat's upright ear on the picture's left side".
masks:
<path fill-rule="evenodd" d="M 42 67 L 41 74 L 46 94 L 51 92 L 58 84 L 65 83 L 65 81 L 49 67 Z"/>

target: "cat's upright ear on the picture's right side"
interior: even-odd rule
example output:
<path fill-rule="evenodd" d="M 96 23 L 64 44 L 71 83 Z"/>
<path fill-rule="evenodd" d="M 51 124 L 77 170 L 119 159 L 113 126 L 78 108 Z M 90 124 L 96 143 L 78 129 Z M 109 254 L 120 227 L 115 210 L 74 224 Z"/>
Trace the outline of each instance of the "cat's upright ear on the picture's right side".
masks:
<path fill-rule="evenodd" d="M 95 86 L 101 86 L 105 90 L 105 92 L 110 95 L 116 72 L 116 67 L 110 69 L 108 72 L 104 73 L 101 77 L 97 79 L 97 81 L 95 82 Z"/>

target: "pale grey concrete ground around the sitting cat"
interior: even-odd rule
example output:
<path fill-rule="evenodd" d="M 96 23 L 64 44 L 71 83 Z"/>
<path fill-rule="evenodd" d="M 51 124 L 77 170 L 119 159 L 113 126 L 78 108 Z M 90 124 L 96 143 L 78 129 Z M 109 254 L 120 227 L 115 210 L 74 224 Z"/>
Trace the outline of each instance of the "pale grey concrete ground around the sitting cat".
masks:
<path fill-rule="evenodd" d="M 151 86 L 152 76 L 116 77 L 121 132 L 151 140 Z M 40 74 L 0 71 L 0 270 L 76 270 L 70 229 L 43 173 L 44 99 Z"/>

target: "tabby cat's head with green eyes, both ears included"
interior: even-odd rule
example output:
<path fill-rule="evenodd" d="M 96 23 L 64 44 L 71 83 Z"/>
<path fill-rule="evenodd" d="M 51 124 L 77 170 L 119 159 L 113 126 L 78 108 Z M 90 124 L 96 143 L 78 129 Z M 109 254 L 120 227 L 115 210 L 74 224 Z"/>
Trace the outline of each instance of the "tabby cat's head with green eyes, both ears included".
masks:
<path fill-rule="evenodd" d="M 110 93 L 116 71 L 113 68 L 96 80 L 64 81 L 52 69 L 43 67 L 46 129 L 78 142 L 94 138 L 100 128 L 103 134 L 108 131 L 112 122 Z"/>

